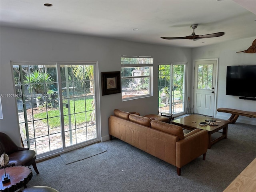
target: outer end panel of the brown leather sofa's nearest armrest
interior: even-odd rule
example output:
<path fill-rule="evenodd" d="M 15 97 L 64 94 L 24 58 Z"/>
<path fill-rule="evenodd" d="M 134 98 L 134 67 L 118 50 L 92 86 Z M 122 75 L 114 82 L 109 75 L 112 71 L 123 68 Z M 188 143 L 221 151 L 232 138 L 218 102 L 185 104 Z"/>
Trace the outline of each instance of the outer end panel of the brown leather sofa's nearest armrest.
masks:
<path fill-rule="evenodd" d="M 190 161 L 207 152 L 208 133 L 206 130 L 194 131 L 176 142 L 176 167 L 181 168 Z"/>

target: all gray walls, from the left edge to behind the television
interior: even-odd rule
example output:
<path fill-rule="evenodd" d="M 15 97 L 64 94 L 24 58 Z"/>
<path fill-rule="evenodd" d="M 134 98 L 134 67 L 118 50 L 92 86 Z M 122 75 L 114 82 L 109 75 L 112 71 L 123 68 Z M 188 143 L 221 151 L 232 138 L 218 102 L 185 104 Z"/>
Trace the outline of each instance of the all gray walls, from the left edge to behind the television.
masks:
<path fill-rule="evenodd" d="M 101 95 L 101 139 L 108 137 L 108 117 L 115 108 L 136 111 L 140 114 L 157 114 L 157 64 L 188 62 L 188 96 L 192 93 L 193 60 L 219 58 L 217 108 L 236 108 L 256 111 L 256 102 L 241 100 L 238 96 L 226 96 L 226 66 L 256 64 L 256 54 L 236 53 L 247 49 L 256 37 L 203 46 L 201 48 L 175 48 L 142 44 L 122 40 L 1 27 L 0 36 L 0 94 L 14 94 L 10 61 L 98 61 L 100 72 L 120 71 L 121 55 L 154 57 L 154 96 L 122 102 L 121 94 Z M 0 130 L 20 143 L 15 98 L 2 97 L 4 119 Z M 216 113 L 216 117 L 228 119 L 230 114 Z M 255 118 L 240 116 L 238 122 L 256 125 Z"/>

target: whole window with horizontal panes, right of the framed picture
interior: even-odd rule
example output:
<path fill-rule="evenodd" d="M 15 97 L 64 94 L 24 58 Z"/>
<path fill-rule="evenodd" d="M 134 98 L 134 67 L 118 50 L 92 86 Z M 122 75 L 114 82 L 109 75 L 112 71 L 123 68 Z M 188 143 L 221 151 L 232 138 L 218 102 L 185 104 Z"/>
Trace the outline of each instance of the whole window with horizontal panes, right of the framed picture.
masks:
<path fill-rule="evenodd" d="M 153 95 L 153 58 L 121 56 L 122 101 Z"/>

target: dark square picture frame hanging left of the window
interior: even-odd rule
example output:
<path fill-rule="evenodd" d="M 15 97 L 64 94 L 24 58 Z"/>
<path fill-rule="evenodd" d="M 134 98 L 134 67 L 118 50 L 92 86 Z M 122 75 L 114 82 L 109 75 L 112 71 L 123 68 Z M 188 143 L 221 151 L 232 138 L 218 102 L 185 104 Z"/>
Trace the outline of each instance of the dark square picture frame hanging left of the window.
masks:
<path fill-rule="evenodd" d="M 102 95 L 121 92 L 121 72 L 101 72 Z"/>

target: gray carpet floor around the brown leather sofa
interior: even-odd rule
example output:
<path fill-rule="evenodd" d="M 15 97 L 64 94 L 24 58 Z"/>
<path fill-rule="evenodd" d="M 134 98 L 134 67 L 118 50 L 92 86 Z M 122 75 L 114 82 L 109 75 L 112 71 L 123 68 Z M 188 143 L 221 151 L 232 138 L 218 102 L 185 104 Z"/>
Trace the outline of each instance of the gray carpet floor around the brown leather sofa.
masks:
<path fill-rule="evenodd" d="M 27 186 L 59 192 L 222 192 L 256 157 L 256 126 L 228 125 L 222 139 L 202 156 L 176 167 L 118 139 L 98 143 L 106 152 L 66 165 L 60 156 L 38 162 Z"/>

